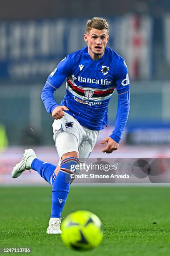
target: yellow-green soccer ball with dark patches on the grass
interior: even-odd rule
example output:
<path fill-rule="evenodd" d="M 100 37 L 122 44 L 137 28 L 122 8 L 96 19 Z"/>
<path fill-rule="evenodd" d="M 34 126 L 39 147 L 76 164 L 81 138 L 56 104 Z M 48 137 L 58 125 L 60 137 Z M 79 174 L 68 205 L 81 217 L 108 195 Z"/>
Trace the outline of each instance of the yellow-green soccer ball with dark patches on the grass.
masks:
<path fill-rule="evenodd" d="M 88 211 L 72 212 L 63 221 L 61 230 L 62 241 L 75 250 L 95 248 L 103 238 L 100 219 Z"/>

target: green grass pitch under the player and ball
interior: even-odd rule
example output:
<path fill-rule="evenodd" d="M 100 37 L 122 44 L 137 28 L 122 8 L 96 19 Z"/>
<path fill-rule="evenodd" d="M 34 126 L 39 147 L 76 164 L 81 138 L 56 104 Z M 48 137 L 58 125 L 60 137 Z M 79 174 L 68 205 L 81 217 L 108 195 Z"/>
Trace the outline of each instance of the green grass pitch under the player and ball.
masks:
<path fill-rule="evenodd" d="M 103 223 L 102 244 L 88 252 L 46 234 L 50 207 L 50 187 L 0 187 L 0 247 L 30 247 L 36 256 L 170 255 L 170 187 L 72 186 L 62 217 L 90 210 Z"/>

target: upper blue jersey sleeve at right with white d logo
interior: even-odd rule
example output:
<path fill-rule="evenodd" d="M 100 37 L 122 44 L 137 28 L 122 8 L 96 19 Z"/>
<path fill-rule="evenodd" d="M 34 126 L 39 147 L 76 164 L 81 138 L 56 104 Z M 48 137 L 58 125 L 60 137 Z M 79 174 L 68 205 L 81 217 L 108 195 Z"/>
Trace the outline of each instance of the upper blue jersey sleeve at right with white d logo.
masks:
<path fill-rule="evenodd" d="M 129 81 L 128 67 L 126 65 L 125 60 L 122 57 L 120 57 L 117 63 L 118 64 L 117 64 L 115 88 L 119 95 L 129 91 L 130 81 Z"/>

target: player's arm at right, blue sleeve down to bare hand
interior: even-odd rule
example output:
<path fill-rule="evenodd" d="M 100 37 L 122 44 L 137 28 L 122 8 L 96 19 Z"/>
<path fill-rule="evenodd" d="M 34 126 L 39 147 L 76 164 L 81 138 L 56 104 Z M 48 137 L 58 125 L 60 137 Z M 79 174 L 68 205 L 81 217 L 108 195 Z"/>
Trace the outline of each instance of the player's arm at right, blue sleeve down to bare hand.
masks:
<path fill-rule="evenodd" d="M 116 90 L 118 93 L 118 104 L 117 104 L 117 114 L 115 129 L 112 134 L 105 138 L 101 144 L 107 142 L 107 146 L 102 150 L 102 152 L 112 153 L 119 146 L 119 142 L 124 131 L 126 122 L 128 120 L 129 110 L 130 110 L 130 92 L 129 92 L 130 82 L 128 75 L 128 68 L 125 61 L 121 58 L 120 65 L 117 68 L 116 77 Z"/>

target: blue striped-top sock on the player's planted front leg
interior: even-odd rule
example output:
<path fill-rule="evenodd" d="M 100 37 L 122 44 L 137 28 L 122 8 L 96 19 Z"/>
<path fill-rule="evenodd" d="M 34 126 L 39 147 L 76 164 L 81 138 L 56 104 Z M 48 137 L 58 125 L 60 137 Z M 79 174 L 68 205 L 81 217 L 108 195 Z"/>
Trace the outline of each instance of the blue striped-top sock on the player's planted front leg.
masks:
<path fill-rule="evenodd" d="M 79 160 L 75 157 L 66 158 L 61 162 L 60 171 L 58 172 L 52 187 L 52 207 L 51 218 L 61 218 L 61 212 L 65 205 L 67 195 L 70 189 L 71 165 L 78 164 Z"/>

